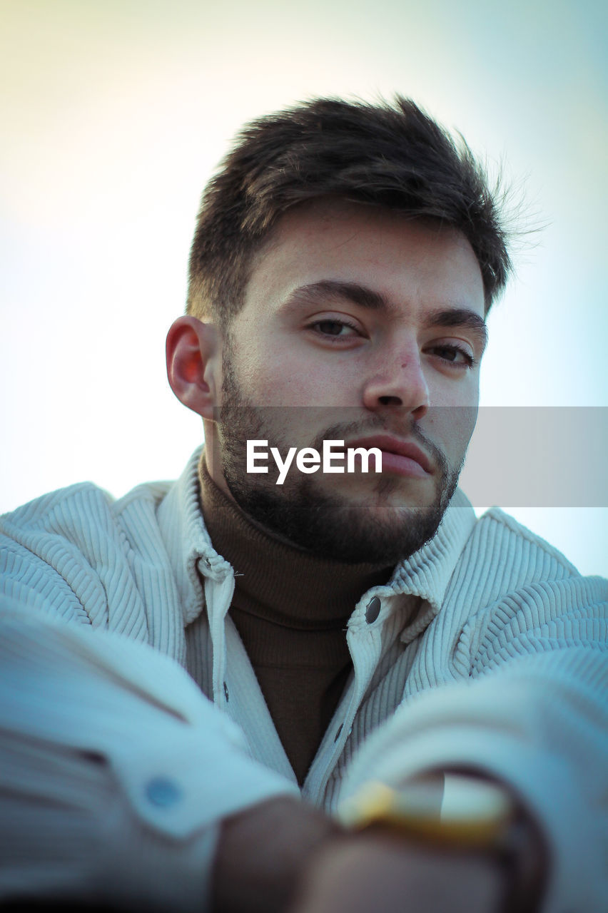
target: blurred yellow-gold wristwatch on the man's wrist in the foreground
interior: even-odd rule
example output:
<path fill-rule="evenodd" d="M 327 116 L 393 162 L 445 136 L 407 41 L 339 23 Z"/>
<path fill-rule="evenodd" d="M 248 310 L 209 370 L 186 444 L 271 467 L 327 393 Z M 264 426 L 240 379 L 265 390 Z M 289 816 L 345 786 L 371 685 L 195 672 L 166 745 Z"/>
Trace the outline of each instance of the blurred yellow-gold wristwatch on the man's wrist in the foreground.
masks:
<path fill-rule="evenodd" d="M 429 775 L 400 789 L 367 782 L 341 804 L 337 816 L 349 831 L 379 827 L 429 848 L 488 854 L 505 873 L 505 911 L 539 908 L 544 844 L 499 782 L 463 773 Z"/>

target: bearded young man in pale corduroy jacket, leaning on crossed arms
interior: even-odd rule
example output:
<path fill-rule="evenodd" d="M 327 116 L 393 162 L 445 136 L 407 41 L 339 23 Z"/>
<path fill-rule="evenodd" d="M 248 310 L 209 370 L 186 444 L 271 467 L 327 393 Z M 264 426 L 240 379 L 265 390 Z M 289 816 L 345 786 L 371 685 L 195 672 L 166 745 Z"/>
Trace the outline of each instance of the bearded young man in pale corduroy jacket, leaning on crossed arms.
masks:
<path fill-rule="evenodd" d="M 3 897 L 599 913 L 608 588 L 456 489 L 508 272 L 414 103 L 246 128 L 167 339 L 204 452 L 3 519 Z"/>

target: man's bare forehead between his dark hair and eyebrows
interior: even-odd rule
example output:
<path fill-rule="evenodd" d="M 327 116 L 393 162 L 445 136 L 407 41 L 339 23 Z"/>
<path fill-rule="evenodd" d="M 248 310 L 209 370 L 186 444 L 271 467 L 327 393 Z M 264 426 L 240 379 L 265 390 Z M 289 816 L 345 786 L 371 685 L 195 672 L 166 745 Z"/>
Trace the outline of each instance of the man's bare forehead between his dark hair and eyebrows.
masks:
<path fill-rule="evenodd" d="M 445 307 L 484 315 L 481 271 L 462 233 L 377 206 L 328 199 L 281 217 L 257 254 L 243 310 L 271 314 L 297 289 L 324 279 L 360 283 L 408 315 Z"/>

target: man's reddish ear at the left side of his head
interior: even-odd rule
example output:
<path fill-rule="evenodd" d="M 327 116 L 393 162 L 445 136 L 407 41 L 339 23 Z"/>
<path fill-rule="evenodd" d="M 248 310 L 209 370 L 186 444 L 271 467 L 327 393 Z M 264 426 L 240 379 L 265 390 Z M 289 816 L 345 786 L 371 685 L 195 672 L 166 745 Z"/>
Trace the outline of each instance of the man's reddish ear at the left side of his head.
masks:
<path fill-rule="evenodd" d="M 178 317 L 167 333 L 167 376 L 178 400 L 213 420 L 221 390 L 221 344 L 212 323 Z"/>

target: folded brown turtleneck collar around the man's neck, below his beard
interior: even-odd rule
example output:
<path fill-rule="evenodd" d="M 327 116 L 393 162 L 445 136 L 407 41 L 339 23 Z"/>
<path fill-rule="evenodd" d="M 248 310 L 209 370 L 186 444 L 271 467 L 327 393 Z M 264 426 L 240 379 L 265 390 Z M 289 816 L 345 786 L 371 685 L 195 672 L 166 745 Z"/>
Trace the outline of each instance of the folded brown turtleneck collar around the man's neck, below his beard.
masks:
<path fill-rule="evenodd" d="M 335 628 L 392 567 L 329 561 L 260 529 L 215 485 L 199 463 L 204 522 L 214 548 L 236 573 L 235 604 L 267 621 L 299 629 Z"/>

